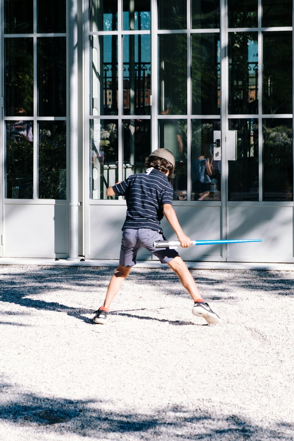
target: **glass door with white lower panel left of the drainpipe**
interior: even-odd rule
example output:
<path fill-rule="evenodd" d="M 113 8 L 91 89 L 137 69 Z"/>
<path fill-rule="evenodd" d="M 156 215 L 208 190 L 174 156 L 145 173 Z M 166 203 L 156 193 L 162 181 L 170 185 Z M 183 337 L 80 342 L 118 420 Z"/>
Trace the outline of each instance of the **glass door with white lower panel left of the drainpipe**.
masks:
<path fill-rule="evenodd" d="M 3 4 L 4 256 L 64 257 L 66 1 Z"/>

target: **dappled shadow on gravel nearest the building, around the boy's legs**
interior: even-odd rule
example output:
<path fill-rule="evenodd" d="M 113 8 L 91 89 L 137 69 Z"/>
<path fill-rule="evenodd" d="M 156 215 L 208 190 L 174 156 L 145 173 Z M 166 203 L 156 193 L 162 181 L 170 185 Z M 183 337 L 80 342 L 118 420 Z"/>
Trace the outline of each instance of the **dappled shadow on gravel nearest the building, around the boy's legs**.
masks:
<path fill-rule="evenodd" d="M 3 267 L 2 267 L 3 268 Z M 52 310 L 63 312 L 71 317 L 78 318 L 85 323 L 92 324 L 92 318 L 85 317 L 86 314 L 92 314 L 92 309 L 78 308 L 64 305 L 58 302 L 47 302 L 41 299 L 34 299 L 33 297 L 40 297 L 40 295 L 54 292 L 64 291 L 64 295 L 69 298 L 69 292 L 85 292 L 91 290 L 95 292 L 97 285 L 103 286 L 103 289 L 108 285 L 110 278 L 114 272 L 113 268 L 89 268 L 89 267 L 68 267 L 58 270 L 54 269 L 38 269 L 34 272 L 19 272 L 19 273 L 0 273 L 0 301 L 13 303 L 19 306 L 28 308 L 36 308 L 39 310 Z M 57 268 L 57 270 L 56 270 Z M 59 273 L 60 272 L 60 273 Z M 246 290 L 246 292 L 255 292 L 262 290 L 265 294 L 275 293 L 278 295 L 293 296 L 293 278 L 283 278 L 279 276 L 279 272 L 274 271 L 257 271 L 252 270 L 250 276 L 248 271 L 238 271 L 238 277 L 223 277 L 222 280 L 217 279 L 221 271 L 214 272 L 210 270 L 205 272 L 209 277 L 203 277 L 204 271 L 193 270 L 196 283 L 199 286 L 206 286 L 208 295 L 205 295 L 207 300 L 234 300 L 234 296 L 228 295 L 234 291 L 234 286 Z M 233 272 L 232 272 L 233 273 Z M 290 272 L 289 272 L 290 273 Z M 215 277 L 215 278 L 214 278 Z M 162 294 L 177 295 L 187 298 L 187 293 L 179 283 L 178 277 L 172 273 L 171 269 L 134 269 L 130 274 L 129 279 L 135 281 L 136 284 L 152 283 Z M 124 282 L 127 284 L 128 280 Z M 142 286 L 140 287 L 142 290 Z M 213 292 L 213 295 L 209 295 Z M 28 297 L 29 296 L 29 297 Z M 15 314 L 18 314 L 17 309 Z M 145 317 L 133 314 L 126 314 L 124 312 L 117 313 L 127 317 L 134 317 L 144 320 L 158 320 L 168 321 L 158 318 Z M 172 325 L 194 325 L 192 322 L 168 321 Z M 12 323 L 11 323 L 12 324 Z"/>

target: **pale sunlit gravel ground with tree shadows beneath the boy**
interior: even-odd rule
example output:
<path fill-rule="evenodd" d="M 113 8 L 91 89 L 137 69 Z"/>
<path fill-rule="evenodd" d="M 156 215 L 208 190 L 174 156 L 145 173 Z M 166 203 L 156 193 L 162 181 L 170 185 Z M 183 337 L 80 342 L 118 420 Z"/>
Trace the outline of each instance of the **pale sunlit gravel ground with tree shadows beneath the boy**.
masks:
<path fill-rule="evenodd" d="M 294 440 L 291 271 L 0 266 L 0 439 Z"/>

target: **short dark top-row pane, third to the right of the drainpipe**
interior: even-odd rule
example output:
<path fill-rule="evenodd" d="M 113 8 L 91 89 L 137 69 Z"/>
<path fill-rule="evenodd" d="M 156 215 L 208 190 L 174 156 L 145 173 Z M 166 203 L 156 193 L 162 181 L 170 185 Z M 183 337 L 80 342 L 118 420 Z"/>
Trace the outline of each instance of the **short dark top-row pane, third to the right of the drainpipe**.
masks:
<path fill-rule="evenodd" d="M 186 1 L 159 0 L 158 29 L 187 29 Z"/>

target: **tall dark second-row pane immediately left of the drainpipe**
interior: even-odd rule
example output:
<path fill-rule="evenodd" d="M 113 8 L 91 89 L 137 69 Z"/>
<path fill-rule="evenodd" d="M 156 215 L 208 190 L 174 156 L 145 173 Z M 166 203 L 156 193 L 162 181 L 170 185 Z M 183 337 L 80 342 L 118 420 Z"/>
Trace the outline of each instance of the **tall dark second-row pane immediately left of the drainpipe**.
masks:
<path fill-rule="evenodd" d="M 38 116 L 66 116 L 66 37 L 38 38 L 37 48 Z"/>

